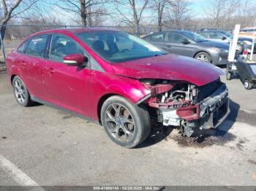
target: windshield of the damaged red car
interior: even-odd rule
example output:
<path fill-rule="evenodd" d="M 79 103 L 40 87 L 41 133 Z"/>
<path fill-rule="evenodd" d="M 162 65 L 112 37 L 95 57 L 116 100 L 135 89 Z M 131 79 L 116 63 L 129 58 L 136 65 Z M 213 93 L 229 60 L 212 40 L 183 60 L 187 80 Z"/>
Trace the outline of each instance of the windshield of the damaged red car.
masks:
<path fill-rule="evenodd" d="M 99 56 L 113 63 L 165 54 L 143 39 L 124 32 L 83 32 L 76 35 Z"/>

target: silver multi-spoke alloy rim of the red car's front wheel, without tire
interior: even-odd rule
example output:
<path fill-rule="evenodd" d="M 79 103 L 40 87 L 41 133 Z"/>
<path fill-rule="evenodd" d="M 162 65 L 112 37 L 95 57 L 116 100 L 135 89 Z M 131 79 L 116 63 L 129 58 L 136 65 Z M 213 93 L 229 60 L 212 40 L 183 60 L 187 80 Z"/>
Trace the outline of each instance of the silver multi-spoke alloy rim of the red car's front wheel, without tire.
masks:
<path fill-rule="evenodd" d="M 129 141 L 135 134 L 135 121 L 129 110 L 121 104 L 111 104 L 105 112 L 107 129 L 118 141 Z"/>

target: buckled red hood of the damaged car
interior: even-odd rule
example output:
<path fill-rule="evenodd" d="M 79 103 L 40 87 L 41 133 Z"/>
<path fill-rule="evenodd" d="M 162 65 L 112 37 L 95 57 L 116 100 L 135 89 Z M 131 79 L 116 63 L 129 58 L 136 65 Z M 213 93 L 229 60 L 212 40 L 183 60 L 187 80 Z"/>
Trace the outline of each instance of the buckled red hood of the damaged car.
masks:
<path fill-rule="evenodd" d="M 114 74 L 124 77 L 181 80 L 197 86 L 206 85 L 225 74 L 210 63 L 173 54 L 113 63 L 112 67 Z"/>

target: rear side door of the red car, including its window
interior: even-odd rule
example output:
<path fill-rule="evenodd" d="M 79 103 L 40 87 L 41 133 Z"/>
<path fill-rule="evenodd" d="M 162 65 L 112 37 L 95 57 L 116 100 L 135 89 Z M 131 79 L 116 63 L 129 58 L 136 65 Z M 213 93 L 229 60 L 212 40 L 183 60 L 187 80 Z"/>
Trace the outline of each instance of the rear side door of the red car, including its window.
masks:
<path fill-rule="evenodd" d="M 34 36 L 29 39 L 26 50 L 20 57 L 20 71 L 23 76 L 29 93 L 37 98 L 45 98 L 45 77 L 43 67 L 45 60 L 45 49 L 48 42 L 48 35 Z"/>

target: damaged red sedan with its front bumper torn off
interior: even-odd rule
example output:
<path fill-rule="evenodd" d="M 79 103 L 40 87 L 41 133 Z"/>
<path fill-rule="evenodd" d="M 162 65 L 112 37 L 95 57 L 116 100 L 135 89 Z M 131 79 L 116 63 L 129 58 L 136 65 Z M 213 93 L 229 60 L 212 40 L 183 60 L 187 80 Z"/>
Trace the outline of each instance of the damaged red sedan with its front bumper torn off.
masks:
<path fill-rule="evenodd" d="M 97 121 L 128 148 L 148 137 L 153 117 L 192 136 L 217 128 L 229 113 L 221 69 L 122 31 L 33 34 L 7 57 L 7 73 L 21 106 L 39 102 Z"/>

